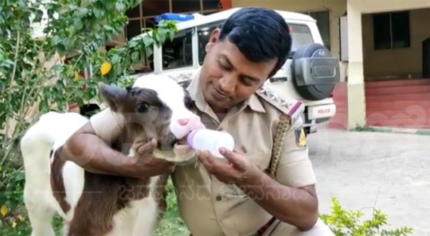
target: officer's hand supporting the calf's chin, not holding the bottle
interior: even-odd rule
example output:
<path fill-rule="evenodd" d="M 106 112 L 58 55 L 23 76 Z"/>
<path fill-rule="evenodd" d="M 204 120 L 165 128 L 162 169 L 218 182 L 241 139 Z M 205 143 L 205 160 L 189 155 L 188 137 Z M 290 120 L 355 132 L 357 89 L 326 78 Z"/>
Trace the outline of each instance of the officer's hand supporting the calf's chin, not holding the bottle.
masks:
<path fill-rule="evenodd" d="M 135 173 L 140 177 L 157 176 L 171 173 L 175 170 L 175 164 L 160 158 L 153 157 L 153 151 L 157 147 L 157 140 L 153 138 L 147 143 L 137 145 L 135 156 L 132 156 L 131 165 Z"/>

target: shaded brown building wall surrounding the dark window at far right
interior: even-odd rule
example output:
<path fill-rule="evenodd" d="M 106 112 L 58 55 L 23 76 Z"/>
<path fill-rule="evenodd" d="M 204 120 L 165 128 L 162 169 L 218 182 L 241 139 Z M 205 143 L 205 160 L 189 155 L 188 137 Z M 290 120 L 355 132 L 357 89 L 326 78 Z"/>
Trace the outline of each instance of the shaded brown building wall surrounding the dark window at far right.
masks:
<path fill-rule="evenodd" d="M 363 15 L 365 80 L 422 76 L 422 41 L 430 37 L 430 8 L 411 10 L 409 22 L 411 47 L 375 50 L 372 14 Z"/>

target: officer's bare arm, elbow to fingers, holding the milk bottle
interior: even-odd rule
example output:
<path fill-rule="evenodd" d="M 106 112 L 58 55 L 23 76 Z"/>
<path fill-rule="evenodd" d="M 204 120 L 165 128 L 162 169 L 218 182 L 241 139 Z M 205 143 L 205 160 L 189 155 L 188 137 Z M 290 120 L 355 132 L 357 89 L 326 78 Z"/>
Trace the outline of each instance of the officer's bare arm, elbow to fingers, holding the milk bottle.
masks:
<path fill-rule="evenodd" d="M 220 181 L 233 182 L 270 215 L 300 230 L 309 230 L 316 224 L 318 199 L 314 185 L 301 188 L 282 185 L 250 163 L 243 154 L 223 148 L 220 151 L 230 162 L 227 165 L 209 152 L 200 152 L 198 156 Z"/>

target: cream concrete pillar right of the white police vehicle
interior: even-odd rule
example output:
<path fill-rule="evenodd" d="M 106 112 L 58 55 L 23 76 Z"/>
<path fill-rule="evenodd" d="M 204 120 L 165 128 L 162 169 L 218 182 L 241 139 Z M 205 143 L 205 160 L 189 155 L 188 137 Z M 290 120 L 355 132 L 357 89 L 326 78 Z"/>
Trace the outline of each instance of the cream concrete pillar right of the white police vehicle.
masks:
<path fill-rule="evenodd" d="M 365 125 L 365 93 L 363 74 L 363 39 L 361 1 L 347 1 L 348 21 L 348 124 L 347 129 Z"/>

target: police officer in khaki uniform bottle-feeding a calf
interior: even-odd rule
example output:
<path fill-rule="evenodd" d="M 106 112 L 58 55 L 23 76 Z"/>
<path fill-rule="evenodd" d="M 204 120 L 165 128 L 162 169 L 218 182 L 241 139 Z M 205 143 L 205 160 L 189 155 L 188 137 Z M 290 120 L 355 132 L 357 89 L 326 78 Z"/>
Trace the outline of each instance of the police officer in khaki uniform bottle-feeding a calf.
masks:
<path fill-rule="evenodd" d="M 333 235 L 318 219 L 303 105 L 264 87 L 290 49 L 289 26 L 266 8 L 242 8 L 213 31 L 187 90 L 207 128 L 234 136 L 238 148 L 221 149 L 225 159 L 199 152 L 195 165 L 156 158 L 112 165 L 109 143 L 121 124 L 108 109 L 92 116 L 62 154 L 89 172 L 148 177 L 174 170 L 178 206 L 192 235 Z M 147 153 L 153 145 L 146 143 Z"/>

